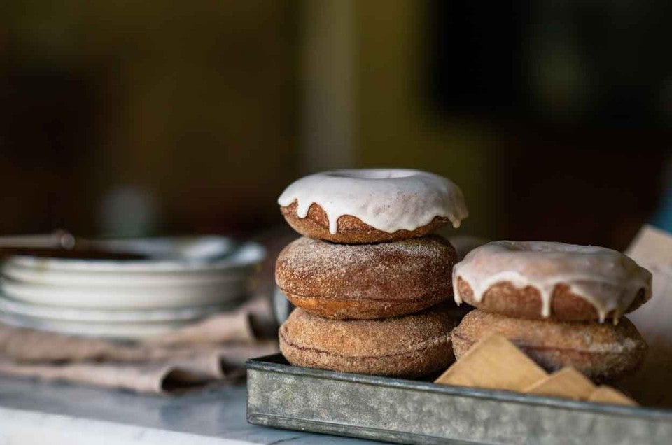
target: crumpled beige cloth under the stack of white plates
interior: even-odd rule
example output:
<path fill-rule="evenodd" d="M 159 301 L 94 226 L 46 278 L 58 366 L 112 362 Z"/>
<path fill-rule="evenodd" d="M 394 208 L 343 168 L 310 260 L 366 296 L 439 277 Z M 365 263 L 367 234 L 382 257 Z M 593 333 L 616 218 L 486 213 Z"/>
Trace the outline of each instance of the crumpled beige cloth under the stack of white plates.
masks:
<path fill-rule="evenodd" d="M 262 299 L 141 343 L 74 337 L 0 323 L 0 374 L 167 393 L 237 381 L 247 358 L 276 353 L 255 338 L 272 322 Z"/>

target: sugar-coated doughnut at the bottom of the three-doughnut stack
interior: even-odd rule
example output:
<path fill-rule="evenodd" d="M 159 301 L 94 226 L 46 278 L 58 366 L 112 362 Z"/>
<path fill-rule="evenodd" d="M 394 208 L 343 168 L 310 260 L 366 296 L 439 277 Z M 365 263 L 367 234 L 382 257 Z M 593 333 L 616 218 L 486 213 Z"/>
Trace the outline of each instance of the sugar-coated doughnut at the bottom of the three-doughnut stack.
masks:
<path fill-rule="evenodd" d="M 280 351 L 295 366 L 417 377 L 452 362 L 456 324 L 445 307 L 381 320 L 332 320 L 297 308 L 280 327 Z"/>

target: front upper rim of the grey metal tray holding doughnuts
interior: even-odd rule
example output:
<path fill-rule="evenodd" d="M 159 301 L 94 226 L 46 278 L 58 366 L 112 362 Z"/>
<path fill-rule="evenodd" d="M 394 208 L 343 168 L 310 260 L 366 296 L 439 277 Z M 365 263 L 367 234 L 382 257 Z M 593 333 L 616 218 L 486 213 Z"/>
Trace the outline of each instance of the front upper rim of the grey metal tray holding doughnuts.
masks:
<path fill-rule="evenodd" d="M 263 355 L 261 357 L 246 360 L 245 367 L 246 369 L 254 369 L 265 372 L 275 372 L 279 374 L 310 376 L 318 379 L 346 381 L 350 383 L 364 383 L 373 386 L 402 388 L 407 390 L 416 390 L 428 393 L 439 393 L 445 395 L 470 397 L 480 400 L 494 400 L 498 402 L 510 402 L 517 404 L 533 405 L 533 406 L 552 407 L 558 409 L 573 409 L 577 411 L 586 411 L 597 414 L 627 416 L 629 418 L 638 417 L 638 418 L 646 418 L 649 420 L 652 420 L 652 418 L 656 418 L 657 420 L 660 421 L 668 421 L 672 423 L 672 409 L 653 408 L 653 407 L 629 407 L 624 405 L 605 404 L 598 402 L 581 402 L 577 400 L 563 399 L 560 397 L 531 395 L 507 390 L 490 390 L 484 388 L 471 388 L 468 386 L 438 385 L 436 383 L 427 381 L 397 379 L 395 377 L 372 376 L 367 374 L 354 374 L 349 372 L 336 372 L 336 371 L 328 371 L 326 369 L 298 367 L 275 362 L 276 360 L 279 359 L 285 360 L 281 353 Z"/>

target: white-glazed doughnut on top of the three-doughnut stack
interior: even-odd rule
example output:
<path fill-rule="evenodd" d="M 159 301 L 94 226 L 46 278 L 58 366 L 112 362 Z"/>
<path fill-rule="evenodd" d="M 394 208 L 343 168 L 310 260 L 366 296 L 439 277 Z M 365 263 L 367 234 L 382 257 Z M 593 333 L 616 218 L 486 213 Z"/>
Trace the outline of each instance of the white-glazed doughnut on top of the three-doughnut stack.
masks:
<path fill-rule="evenodd" d="M 419 170 L 335 170 L 293 182 L 278 199 L 303 236 L 335 243 L 380 243 L 423 236 L 468 216 L 462 191 Z"/>

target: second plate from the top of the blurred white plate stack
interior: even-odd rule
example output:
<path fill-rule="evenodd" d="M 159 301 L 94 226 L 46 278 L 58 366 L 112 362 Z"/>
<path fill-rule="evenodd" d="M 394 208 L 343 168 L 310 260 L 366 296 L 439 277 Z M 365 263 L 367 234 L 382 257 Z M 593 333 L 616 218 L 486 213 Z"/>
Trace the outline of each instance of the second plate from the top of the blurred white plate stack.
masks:
<path fill-rule="evenodd" d="M 10 298 L 31 304 L 94 309 L 158 309 L 224 304 L 245 297 L 249 283 L 243 279 L 133 288 L 42 285 L 3 279 L 0 289 Z"/>

